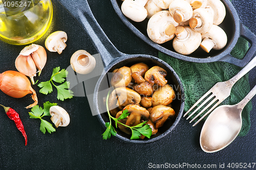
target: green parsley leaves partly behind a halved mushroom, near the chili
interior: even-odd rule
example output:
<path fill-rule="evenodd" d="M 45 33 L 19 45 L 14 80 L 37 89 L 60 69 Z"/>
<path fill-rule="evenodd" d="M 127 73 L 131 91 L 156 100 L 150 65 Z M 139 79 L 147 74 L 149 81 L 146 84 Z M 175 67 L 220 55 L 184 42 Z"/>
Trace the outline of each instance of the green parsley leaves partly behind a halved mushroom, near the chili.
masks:
<path fill-rule="evenodd" d="M 50 107 L 56 105 L 57 103 L 46 102 L 44 103 L 44 109 L 42 109 L 38 105 L 35 105 L 34 107 L 32 107 L 31 112 L 29 112 L 30 118 L 39 118 L 41 120 L 40 131 L 44 134 L 46 133 L 46 130 L 48 131 L 48 133 L 55 132 L 52 124 L 42 119 L 42 117 L 51 116 L 49 112 Z"/>

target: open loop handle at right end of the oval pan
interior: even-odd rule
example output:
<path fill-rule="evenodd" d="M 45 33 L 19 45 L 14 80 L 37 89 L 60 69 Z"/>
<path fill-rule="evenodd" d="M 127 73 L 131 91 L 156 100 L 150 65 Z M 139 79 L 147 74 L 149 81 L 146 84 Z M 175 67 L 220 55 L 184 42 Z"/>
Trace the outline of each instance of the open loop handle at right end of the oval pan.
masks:
<path fill-rule="evenodd" d="M 247 53 L 245 54 L 244 58 L 240 60 L 240 59 L 234 58 L 230 54 L 227 54 L 220 61 L 224 61 L 240 67 L 244 67 L 254 57 L 254 54 L 256 52 L 256 36 L 248 28 L 246 28 L 242 23 L 240 24 L 240 36 L 246 39 L 250 43 L 250 47 Z"/>

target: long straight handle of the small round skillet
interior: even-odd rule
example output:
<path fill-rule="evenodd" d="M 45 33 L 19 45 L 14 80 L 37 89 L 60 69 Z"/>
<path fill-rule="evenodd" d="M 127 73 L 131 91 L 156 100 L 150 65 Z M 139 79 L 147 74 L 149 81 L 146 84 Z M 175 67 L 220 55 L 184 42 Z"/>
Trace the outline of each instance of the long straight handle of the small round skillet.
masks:
<path fill-rule="evenodd" d="M 69 13 L 79 22 L 82 28 L 88 33 L 94 46 L 101 55 L 104 67 L 108 66 L 114 58 L 123 56 L 105 35 L 96 21 L 87 0 L 58 0 Z"/>

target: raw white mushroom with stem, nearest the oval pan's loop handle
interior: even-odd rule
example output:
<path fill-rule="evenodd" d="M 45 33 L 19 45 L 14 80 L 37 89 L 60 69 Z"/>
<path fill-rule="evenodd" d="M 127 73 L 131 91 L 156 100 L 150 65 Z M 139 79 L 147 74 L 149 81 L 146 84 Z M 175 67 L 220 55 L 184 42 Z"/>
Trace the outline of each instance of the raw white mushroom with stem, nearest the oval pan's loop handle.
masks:
<path fill-rule="evenodd" d="M 227 35 L 219 26 L 212 25 L 211 29 L 202 34 L 203 41 L 200 46 L 207 53 L 210 52 L 211 48 L 214 50 L 221 50 L 227 44 Z"/>

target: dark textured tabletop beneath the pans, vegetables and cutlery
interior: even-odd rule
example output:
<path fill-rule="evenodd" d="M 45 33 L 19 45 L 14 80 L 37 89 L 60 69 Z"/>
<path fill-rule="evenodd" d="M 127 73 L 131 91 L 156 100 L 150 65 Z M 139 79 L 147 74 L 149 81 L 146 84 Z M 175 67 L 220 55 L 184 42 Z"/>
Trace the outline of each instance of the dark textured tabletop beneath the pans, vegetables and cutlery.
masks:
<path fill-rule="evenodd" d="M 46 37 L 53 31 L 67 32 L 67 48 L 61 55 L 48 54 L 48 61 L 42 71 L 39 81 L 47 81 L 54 67 L 67 68 L 70 57 L 80 49 L 91 54 L 97 54 L 89 36 L 83 31 L 70 14 L 57 2 L 52 1 L 54 17 L 51 28 L 44 37 L 35 43 L 43 45 Z M 72 1 L 70 1 L 72 3 Z M 124 26 L 116 15 L 110 1 L 89 1 L 92 11 L 100 26 L 117 49 L 126 54 L 158 55 L 158 51 L 147 45 Z M 241 22 L 256 34 L 256 2 L 233 1 Z M 16 70 L 14 61 L 24 46 L 10 45 L 0 42 L 1 66 L 0 72 Z M 256 85 L 256 68 L 250 71 L 251 88 Z M 37 79 L 37 78 L 36 78 Z M 0 91 L 0 103 L 14 108 L 23 120 L 28 135 L 28 145 L 25 146 L 22 134 L 16 129 L 12 120 L 4 110 L 0 118 L 0 169 L 148 169 L 157 164 L 192 169 L 205 164 L 206 167 L 230 163 L 256 162 L 256 98 L 252 99 L 253 108 L 250 114 L 251 128 L 244 137 L 237 137 L 227 148 L 217 153 L 204 153 L 199 144 L 199 136 L 203 123 L 192 127 L 187 120 L 181 118 L 178 126 L 164 138 L 148 144 L 129 144 L 111 137 L 102 140 L 104 129 L 96 116 L 92 116 L 88 100 L 83 94 L 73 99 L 58 101 L 56 90 L 44 95 L 39 88 L 32 86 L 38 95 L 39 106 L 46 101 L 56 102 L 70 113 L 71 123 L 68 127 L 59 127 L 56 132 L 43 134 L 39 130 L 40 120 L 29 118 L 30 109 L 24 107 L 31 104 L 28 95 L 23 99 L 14 99 Z M 73 89 L 76 93 L 76 88 Z M 50 117 L 46 117 L 50 121 Z M 151 166 L 152 165 L 152 166 Z M 190 167 L 189 167 L 190 165 Z M 254 165 L 254 169 L 256 165 Z M 159 168 L 160 169 L 160 168 Z M 196 169 L 196 168 L 195 168 Z M 207 169 L 207 168 L 206 168 Z M 250 168 L 247 168 L 250 169 Z M 251 167 L 252 169 L 252 167 Z"/>

